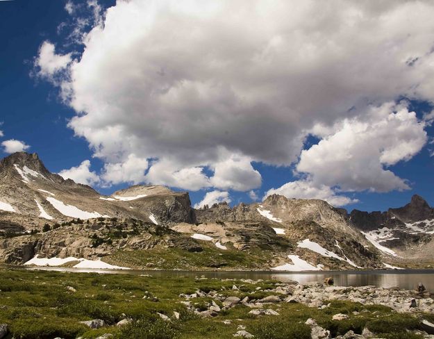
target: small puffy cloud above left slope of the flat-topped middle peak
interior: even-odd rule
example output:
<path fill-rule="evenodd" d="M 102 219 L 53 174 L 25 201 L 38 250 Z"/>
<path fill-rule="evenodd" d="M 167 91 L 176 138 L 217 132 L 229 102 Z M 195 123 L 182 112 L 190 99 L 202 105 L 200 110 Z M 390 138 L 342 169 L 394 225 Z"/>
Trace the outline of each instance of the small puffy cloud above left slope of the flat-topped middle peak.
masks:
<path fill-rule="evenodd" d="M 104 165 L 101 179 L 106 184 L 141 183 L 145 180 L 144 172 L 148 168 L 148 160 L 130 154 L 123 163 L 107 163 Z"/>

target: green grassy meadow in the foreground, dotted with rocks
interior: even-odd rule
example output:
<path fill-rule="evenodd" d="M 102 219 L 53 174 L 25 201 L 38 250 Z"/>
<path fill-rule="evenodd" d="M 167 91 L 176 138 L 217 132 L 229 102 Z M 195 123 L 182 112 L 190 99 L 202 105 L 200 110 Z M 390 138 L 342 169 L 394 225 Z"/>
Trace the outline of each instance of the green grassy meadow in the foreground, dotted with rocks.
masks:
<path fill-rule="evenodd" d="M 242 325 L 255 338 L 303 339 L 310 338 L 310 328 L 304 322 L 312 317 L 330 330 L 333 337 L 351 329 L 361 333 L 367 327 L 380 338 L 422 338 L 407 331 L 419 327 L 417 315 L 398 314 L 384 306 L 333 301 L 329 307 L 317 309 L 281 302 L 269 306 L 280 315 L 253 316 L 249 314 L 251 308 L 238 305 L 221 311 L 216 317 L 202 318 L 187 311 L 180 302 L 185 299 L 179 297 L 181 293 L 215 290 L 225 296 L 260 299 L 275 295 L 267 290 L 275 288 L 276 283 L 0 268 L 0 324 L 8 324 L 10 338 L 12 335 L 14 338 L 97 338 L 104 333 L 112 333 L 112 338 L 119 339 L 233 338 Z M 233 290 L 233 285 L 240 290 Z M 144 296 L 147 298 L 143 299 Z M 210 297 L 191 299 L 201 310 L 206 309 L 210 300 Z M 174 312 L 180 314 L 179 320 Z M 171 320 L 162 320 L 158 313 Z M 336 313 L 347 314 L 349 319 L 334 321 L 332 316 Z M 433 320 L 432 315 L 424 317 Z M 125 318 L 133 322 L 116 326 Z M 106 326 L 89 329 L 79 323 L 92 319 L 104 320 Z"/>

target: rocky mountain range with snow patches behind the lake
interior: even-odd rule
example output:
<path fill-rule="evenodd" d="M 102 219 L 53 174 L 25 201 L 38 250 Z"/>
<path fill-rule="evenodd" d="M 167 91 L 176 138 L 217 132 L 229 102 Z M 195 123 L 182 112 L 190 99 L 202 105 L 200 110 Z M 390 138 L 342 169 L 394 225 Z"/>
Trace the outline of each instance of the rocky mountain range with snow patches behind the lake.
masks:
<path fill-rule="evenodd" d="M 187 192 L 160 185 L 100 195 L 49 172 L 37 154 L 0 161 L 0 262 L 9 264 L 76 258 L 137 269 L 431 267 L 433 233 L 434 209 L 417 195 L 372 213 L 281 195 L 194 209 Z"/>

